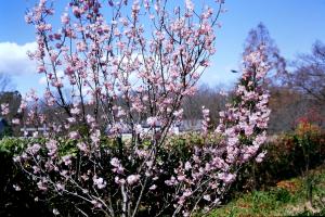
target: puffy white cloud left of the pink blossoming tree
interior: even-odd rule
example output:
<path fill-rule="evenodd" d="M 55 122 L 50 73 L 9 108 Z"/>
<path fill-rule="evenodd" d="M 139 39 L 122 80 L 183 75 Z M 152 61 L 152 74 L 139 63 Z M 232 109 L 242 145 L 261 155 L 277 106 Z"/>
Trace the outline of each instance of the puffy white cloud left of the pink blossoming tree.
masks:
<path fill-rule="evenodd" d="M 29 60 L 27 51 L 35 51 L 36 42 L 17 44 L 0 42 L 0 73 L 21 76 L 36 73 L 36 62 Z"/>

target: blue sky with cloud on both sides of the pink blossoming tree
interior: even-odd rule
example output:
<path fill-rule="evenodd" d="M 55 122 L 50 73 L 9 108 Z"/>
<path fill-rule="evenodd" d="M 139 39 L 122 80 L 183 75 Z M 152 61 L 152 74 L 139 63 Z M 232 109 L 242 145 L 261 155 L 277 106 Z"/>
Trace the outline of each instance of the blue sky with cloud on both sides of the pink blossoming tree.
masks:
<path fill-rule="evenodd" d="M 61 3 L 64 0 L 56 0 Z M 180 0 L 182 1 L 182 0 Z M 193 0 L 198 5 L 202 0 Z M 8 0 L 0 4 L 0 73 L 10 74 L 15 87 L 26 92 L 40 89 L 40 76 L 25 58 L 35 41 L 34 27 L 25 24 L 24 13 L 36 0 Z M 217 53 L 212 66 L 200 82 L 230 86 L 238 68 L 243 44 L 249 29 L 262 22 L 268 27 L 281 53 L 294 60 L 298 53 L 310 52 L 318 39 L 325 42 L 325 0 L 225 0 L 222 28 L 217 33 Z"/>

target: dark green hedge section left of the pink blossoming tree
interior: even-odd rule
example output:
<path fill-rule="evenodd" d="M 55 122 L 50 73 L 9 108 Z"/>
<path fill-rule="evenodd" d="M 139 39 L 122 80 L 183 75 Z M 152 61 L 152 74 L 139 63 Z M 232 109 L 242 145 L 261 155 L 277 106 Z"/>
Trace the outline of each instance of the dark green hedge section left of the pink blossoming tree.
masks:
<path fill-rule="evenodd" d="M 51 204 L 12 161 L 28 142 L 17 138 L 0 141 L 0 216 L 52 216 Z"/>

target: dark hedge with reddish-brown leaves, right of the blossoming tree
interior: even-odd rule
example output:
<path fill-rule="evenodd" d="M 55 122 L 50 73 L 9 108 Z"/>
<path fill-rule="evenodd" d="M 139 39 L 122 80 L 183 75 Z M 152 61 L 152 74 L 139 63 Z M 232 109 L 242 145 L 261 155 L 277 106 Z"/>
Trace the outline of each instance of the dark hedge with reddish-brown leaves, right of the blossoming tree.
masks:
<path fill-rule="evenodd" d="M 264 189 L 280 180 L 303 176 L 325 161 L 325 132 L 311 123 L 300 122 L 294 132 L 274 136 L 263 146 L 260 164 L 246 165 L 234 191 Z M 255 178 L 251 176 L 255 174 Z M 236 190 L 235 190 L 236 189 Z"/>

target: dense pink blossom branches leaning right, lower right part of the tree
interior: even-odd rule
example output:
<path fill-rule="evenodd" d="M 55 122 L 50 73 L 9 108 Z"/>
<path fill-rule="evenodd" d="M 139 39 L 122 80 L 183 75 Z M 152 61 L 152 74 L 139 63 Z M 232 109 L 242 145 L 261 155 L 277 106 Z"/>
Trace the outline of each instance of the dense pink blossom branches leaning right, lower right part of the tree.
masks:
<path fill-rule="evenodd" d="M 192 157 L 181 162 L 166 181 L 167 186 L 178 190 L 174 207 L 184 216 L 193 215 L 199 204 L 206 210 L 219 205 L 240 167 L 251 159 L 261 162 L 264 157 L 262 144 L 271 111 L 269 93 L 264 89 L 269 66 L 263 58 L 263 47 L 245 56 L 233 102 L 220 112 L 220 123 L 213 132 L 221 140 L 196 146 Z M 203 135 L 207 135 L 209 111 L 203 107 Z M 197 201 L 194 206 L 192 200 Z"/>

